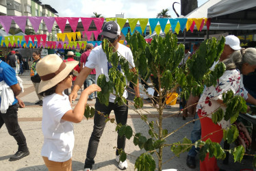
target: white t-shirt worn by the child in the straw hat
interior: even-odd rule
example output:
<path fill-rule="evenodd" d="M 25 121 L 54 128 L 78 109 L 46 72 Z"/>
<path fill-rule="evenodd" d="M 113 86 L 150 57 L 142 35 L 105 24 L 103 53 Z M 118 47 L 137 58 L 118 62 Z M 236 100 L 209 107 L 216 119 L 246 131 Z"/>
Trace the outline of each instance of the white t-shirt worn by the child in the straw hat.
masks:
<path fill-rule="evenodd" d="M 42 133 L 44 144 L 41 155 L 51 161 L 63 162 L 71 159 L 75 143 L 73 123 L 62 120 L 71 110 L 68 96 L 51 94 L 45 96 L 42 104 Z"/>

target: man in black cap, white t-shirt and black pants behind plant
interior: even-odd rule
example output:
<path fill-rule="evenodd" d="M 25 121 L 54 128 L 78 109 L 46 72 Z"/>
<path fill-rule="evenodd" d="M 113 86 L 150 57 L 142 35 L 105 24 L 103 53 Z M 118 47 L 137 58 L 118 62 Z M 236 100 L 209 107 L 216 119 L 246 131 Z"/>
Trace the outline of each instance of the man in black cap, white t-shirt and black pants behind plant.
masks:
<path fill-rule="evenodd" d="M 131 49 L 128 47 L 125 47 L 123 44 L 119 44 L 119 40 L 121 39 L 120 36 L 120 26 L 115 21 L 109 21 L 105 23 L 103 27 L 103 31 L 101 32 L 100 36 L 102 36 L 102 39 L 107 39 L 111 42 L 111 46 L 114 47 L 113 51 L 118 51 L 118 54 L 123 55 L 125 57 L 129 64 L 131 64 L 130 69 L 133 73 L 136 73 L 135 65 L 133 62 L 133 55 L 131 53 Z M 107 62 L 107 56 L 105 55 L 101 45 L 98 47 L 95 47 L 90 52 L 90 55 L 88 57 L 88 62 L 86 62 L 86 66 L 81 70 L 81 73 L 77 76 L 77 79 L 75 81 L 75 86 L 73 88 L 73 91 L 71 92 L 69 99 L 70 101 L 75 100 L 77 97 L 77 91 L 81 88 L 84 81 L 86 80 L 86 77 L 90 74 L 93 68 L 96 70 L 96 80 L 99 75 L 104 74 L 106 77 L 108 76 L 108 69 L 110 69 L 111 64 Z M 121 73 L 123 73 L 123 70 L 120 70 Z M 140 96 L 139 92 L 139 86 L 134 86 L 134 90 L 136 92 L 136 96 Z M 127 90 L 125 90 L 123 97 L 127 98 L 128 93 Z M 92 131 L 92 135 L 90 137 L 90 141 L 88 144 L 88 150 L 86 154 L 86 161 L 85 161 L 85 170 L 90 171 L 92 170 L 92 165 L 94 164 L 94 157 L 97 153 L 97 148 L 99 145 L 100 137 L 103 133 L 104 127 L 105 127 L 105 117 L 102 115 L 97 114 L 97 111 L 100 111 L 101 114 L 109 115 L 112 110 L 114 110 L 114 114 L 116 116 L 116 122 L 121 123 L 123 125 L 127 124 L 127 116 L 128 116 L 128 107 L 127 105 L 118 105 L 118 103 L 114 103 L 116 96 L 113 94 L 110 94 L 110 103 L 108 106 L 105 106 L 101 103 L 99 103 L 99 99 L 96 98 L 95 103 L 95 114 L 94 114 L 94 127 Z M 125 140 L 126 137 L 120 137 L 117 138 L 117 148 L 118 149 L 125 149 Z M 116 161 L 119 163 L 118 167 L 120 169 L 126 169 L 127 168 L 127 161 L 119 161 L 118 156 L 118 150 L 116 150 Z"/>

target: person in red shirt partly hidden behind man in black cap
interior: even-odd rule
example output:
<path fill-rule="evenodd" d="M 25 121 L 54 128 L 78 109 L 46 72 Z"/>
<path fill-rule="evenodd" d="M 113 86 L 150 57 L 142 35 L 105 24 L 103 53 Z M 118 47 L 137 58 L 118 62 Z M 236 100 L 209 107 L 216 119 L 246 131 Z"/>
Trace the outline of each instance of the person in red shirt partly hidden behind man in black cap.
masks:
<path fill-rule="evenodd" d="M 88 56 L 90 55 L 90 51 L 92 51 L 92 47 L 93 47 L 93 44 L 91 43 L 86 44 L 86 51 L 81 55 L 80 70 L 82 70 L 86 65 L 86 62 L 88 61 Z M 95 79 L 96 79 L 96 71 L 95 69 L 93 69 L 90 75 L 88 75 L 88 77 L 86 78 L 86 81 L 84 81 L 84 89 L 86 89 L 87 86 L 92 85 L 92 83 L 95 83 Z M 96 92 L 94 92 L 94 94 L 96 96 Z M 93 98 L 93 93 L 89 95 L 89 98 L 87 101 L 92 101 L 92 98 Z"/>

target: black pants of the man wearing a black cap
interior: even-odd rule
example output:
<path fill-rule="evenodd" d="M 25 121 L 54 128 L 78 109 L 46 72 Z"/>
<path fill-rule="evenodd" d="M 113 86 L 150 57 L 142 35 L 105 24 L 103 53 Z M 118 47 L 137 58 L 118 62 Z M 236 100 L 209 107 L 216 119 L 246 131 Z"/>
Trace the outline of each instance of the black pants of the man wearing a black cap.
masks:
<path fill-rule="evenodd" d="M 101 135 L 103 133 L 103 130 L 105 128 L 105 117 L 101 116 L 97 113 L 97 111 L 101 111 L 104 115 L 110 115 L 110 112 L 114 110 L 114 114 L 116 117 L 116 123 L 119 124 L 127 124 L 127 116 L 128 116 L 128 107 L 127 105 L 118 105 L 117 103 L 110 103 L 108 106 L 105 106 L 101 103 L 99 103 L 99 99 L 96 98 L 95 103 L 95 114 L 94 114 L 94 126 L 92 135 L 90 136 L 89 144 L 88 144 L 88 150 L 86 154 L 86 161 L 84 168 L 92 168 L 92 164 L 94 164 L 94 157 L 96 156 L 98 145 L 99 145 L 99 139 L 101 138 Z M 125 140 L 126 137 L 122 136 L 120 137 L 118 135 L 117 137 L 117 148 L 125 149 Z M 116 150 L 116 155 L 118 155 L 118 150 Z"/>

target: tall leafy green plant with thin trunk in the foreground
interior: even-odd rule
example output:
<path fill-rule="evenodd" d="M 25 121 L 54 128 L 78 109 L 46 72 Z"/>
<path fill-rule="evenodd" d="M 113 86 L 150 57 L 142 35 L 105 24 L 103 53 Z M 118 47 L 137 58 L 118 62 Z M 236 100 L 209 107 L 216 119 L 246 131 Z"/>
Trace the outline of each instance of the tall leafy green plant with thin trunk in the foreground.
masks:
<path fill-rule="evenodd" d="M 191 92 L 193 95 L 201 94 L 204 85 L 207 87 L 216 85 L 218 78 L 225 72 L 225 64 L 222 62 L 218 63 L 213 71 L 209 70 L 209 68 L 219 59 L 224 49 L 225 38 L 221 37 L 218 41 L 216 38 L 212 38 L 202 42 L 199 50 L 196 51 L 192 58 L 182 67 L 178 66 L 183 58 L 184 45 L 177 44 L 177 36 L 171 32 L 168 32 L 165 38 L 156 36 L 151 41 L 151 44 L 147 44 L 138 31 L 132 36 L 127 34 L 126 40 L 133 53 L 133 60 L 138 73 L 132 73 L 129 70 L 129 62 L 125 57 L 118 55 L 118 51 L 113 53 L 113 47 L 110 47 L 110 42 L 103 40 L 103 51 L 107 55 L 107 61 L 110 62 L 113 67 L 110 69 L 108 77 L 99 75 L 97 85 L 101 87 L 101 92 L 99 92 L 97 96 L 100 103 L 106 106 L 109 103 L 110 93 L 114 93 L 116 96 L 115 103 L 127 104 L 127 99 L 123 98 L 127 81 L 130 81 L 136 86 L 138 77 L 144 80 L 147 75 L 151 74 L 158 80 L 158 89 L 155 88 L 155 91 L 157 91 L 159 95 L 158 97 L 153 97 L 154 101 L 156 101 L 159 106 L 156 107 L 158 116 L 155 120 L 149 121 L 147 119 L 147 115 L 151 115 L 151 113 L 143 109 L 142 98 L 136 97 L 133 100 L 134 102 L 130 101 L 130 103 L 134 105 L 134 111 L 148 124 L 148 131 L 145 130 L 143 133 L 135 133 L 129 125 L 116 124 L 114 118 L 110 119 L 108 116 L 105 116 L 106 122 L 110 121 L 116 124 L 118 135 L 125 135 L 129 140 L 133 137 L 133 144 L 139 146 L 141 150 L 146 150 L 145 153 L 142 153 L 142 155 L 136 159 L 135 168 L 137 168 L 138 171 L 155 170 L 155 160 L 157 160 L 158 170 L 162 170 L 162 164 L 166 162 L 163 161 L 162 158 L 163 148 L 166 147 L 169 148 L 170 152 L 174 153 L 176 157 L 179 157 L 181 153 L 190 150 L 190 148 L 195 145 L 201 148 L 199 153 L 201 161 L 205 159 L 207 153 L 209 153 L 210 157 L 224 159 L 225 150 L 221 148 L 220 144 L 212 142 L 211 140 L 205 142 L 199 140 L 192 144 L 190 140 L 184 137 L 181 142 L 167 144 L 166 140 L 171 137 L 170 135 L 173 135 L 179 129 L 182 129 L 182 127 L 194 120 L 168 133 L 167 129 L 163 129 L 163 111 L 167 94 L 172 94 L 178 87 L 182 88 L 181 96 L 188 98 Z M 125 76 L 117 69 L 118 65 L 121 66 Z M 153 83 L 152 80 L 151 83 Z M 227 106 L 227 110 L 224 112 L 220 108 L 211 114 L 214 123 L 219 122 L 222 118 L 231 120 L 231 123 L 233 123 L 238 117 L 239 112 L 245 112 L 247 109 L 244 98 L 242 98 L 242 96 L 234 96 L 233 92 L 223 94 L 223 102 Z M 101 112 L 98 111 L 98 114 L 101 114 Z M 94 116 L 94 109 L 87 106 L 84 116 L 86 116 L 86 118 L 92 118 Z M 222 131 L 222 129 L 220 131 Z M 234 142 L 238 137 L 238 129 L 235 125 L 231 125 L 231 127 L 223 130 L 223 135 L 223 139 L 227 140 L 228 143 Z M 129 154 L 121 149 L 118 150 L 120 161 L 125 161 Z M 238 146 L 227 151 L 234 156 L 234 161 L 241 161 L 244 155 L 248 155 L 244 153 L 245 150 L 243 146 Z M 156 159 L 153 158 L 153 154 L 155 154 Z M 254 157 L 253 166 L 256 168 L 256 155 Z"/>

